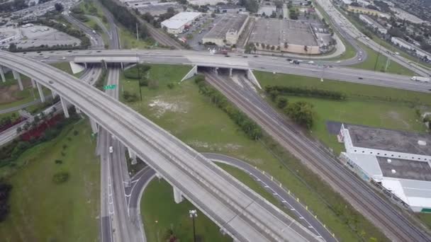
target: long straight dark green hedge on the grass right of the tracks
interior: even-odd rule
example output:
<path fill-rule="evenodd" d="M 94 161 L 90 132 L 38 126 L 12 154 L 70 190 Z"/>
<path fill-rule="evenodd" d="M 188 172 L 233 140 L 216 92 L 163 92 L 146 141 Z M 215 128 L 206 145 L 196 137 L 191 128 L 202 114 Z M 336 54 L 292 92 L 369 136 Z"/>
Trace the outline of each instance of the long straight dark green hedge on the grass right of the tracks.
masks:
<path fill-rule="evenodd" d="M 279 94 L 289 94 L 294 96 L 309 96 L 315 98 L 328 98 L 333 100 L 345 100 L 344 93 L 338 91 L 320 90 L 317 88 L 301 88 L 293 86 L 265 86 L 265 91 L 275 99 Z"/>

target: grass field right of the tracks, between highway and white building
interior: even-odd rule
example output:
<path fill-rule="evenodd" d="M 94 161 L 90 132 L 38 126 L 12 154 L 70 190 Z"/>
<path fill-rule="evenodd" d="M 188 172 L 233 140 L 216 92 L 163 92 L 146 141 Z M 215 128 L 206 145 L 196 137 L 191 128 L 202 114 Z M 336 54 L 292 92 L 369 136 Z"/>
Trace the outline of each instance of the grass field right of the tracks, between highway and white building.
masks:
<path fill-rule="evenodd" d="M 313 103 L 315 124 L 311 131 L 315 137 L 333 149 L 335 154 L 344 150 L 344 146 L 337 142 L 334 134 L 328 133 L 326 129 L 328 120 L 413 132 L 425 132 L 426 130 L 425 125 L 417 120 L 418 117 L 415 114 L 415 105 L 431 106 L 431 98 L 426 93 L 342 81 L 325 80 L 321 82 L 320 79 L 306 76 L 267 72 L 256 72 L 255 75 L 262 86 L 302 86 L 346 93 L 348 98 L 345 101 L 287 97 L 289 101 L 306 100 Z"/>

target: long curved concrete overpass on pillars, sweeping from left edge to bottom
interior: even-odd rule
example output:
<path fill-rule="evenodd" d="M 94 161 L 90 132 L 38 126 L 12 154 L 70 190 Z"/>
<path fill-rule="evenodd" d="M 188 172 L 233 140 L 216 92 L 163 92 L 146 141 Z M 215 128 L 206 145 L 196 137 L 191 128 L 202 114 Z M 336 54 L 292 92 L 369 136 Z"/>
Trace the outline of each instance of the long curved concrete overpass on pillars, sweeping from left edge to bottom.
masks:
<path fill-rule="evenodd" d="M 183 197 L 201 209 L 220 230 L 236 241 L 322 241 L 176 137 L 126 105 L 54 67 L 18 54 L 0 52 L 0 66 L 29 76 L 46 86 L 67 105 L 90 117 L 91 128 L 108 130 L 167 180 L 176 202 Z"/>

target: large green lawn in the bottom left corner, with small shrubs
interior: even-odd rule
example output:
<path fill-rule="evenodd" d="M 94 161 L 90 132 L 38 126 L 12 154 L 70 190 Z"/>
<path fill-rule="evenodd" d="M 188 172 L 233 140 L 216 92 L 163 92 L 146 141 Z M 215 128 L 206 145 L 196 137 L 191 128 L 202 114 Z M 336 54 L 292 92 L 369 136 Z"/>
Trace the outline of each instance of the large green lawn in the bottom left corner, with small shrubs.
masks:
<path fill-rule="evenodd" d="M 17 166 L 0 169 L 13 185 L 1 241 L 99 241 L 100 166 L 90 134 L 88 120 L 80 120 L 26 151 Z M 69 172 L 69 180 L 58 185 L 52 175 L 59 171 Z"/>

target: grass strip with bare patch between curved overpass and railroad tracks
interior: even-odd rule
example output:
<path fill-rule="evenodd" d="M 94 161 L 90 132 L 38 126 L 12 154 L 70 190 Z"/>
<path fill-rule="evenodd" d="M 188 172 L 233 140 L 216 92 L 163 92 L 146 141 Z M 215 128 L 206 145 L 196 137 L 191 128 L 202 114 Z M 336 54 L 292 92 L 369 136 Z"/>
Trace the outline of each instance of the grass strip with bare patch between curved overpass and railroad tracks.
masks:
<path fill-rule="evenodd" d="M 167 83 L 177 83 L 190 67 L 162 65 L 155 65 L 155 67 L 158 67 L 159 74 L 164 76 L 159 78 L 155 73 L 150 74 L 152 79 L 159 80 L 159 88 L 142 88 L 142 102 L 128 103 L 131 108 L 198 151 L 227 154 L 271 173 L 304 204 L 307 204 L 308 208 L 321 218 L 337 238 L 342 241 L 357 241 L 357 234 L 320 200 L 318 192 L 309 190 L 296 175 L 310 178 L 316 186 L 319 186 L 321 193 L 327 195 L 328 199 L 335 200 L 333 204 L 345 207 L 334 191 L 318 178 L 316 179 L 315 175 L 293 156 L 284 154 L 281 160 L 276 159 L 267 146 L 249 139 L 228 115 L 198 93 L 198 87 L 193 81 L 184 81 L 172 89 L 167 88 Z M 153 66 L 151 70 L 155 71 L 155 67 Z M 173 72 L 177 74 L 167 78 L 167 75 Z M 138 93 L 137 87 L 137 81 L 130 81 L 122 76 L 121 89 Z M 291 170 L 285 168 L 286 164 L 291 167 Z M 382 238 L 379 241 L 384 241 L 384 236 L 360 216 L 358 226 L 360 230 L 366 231 L 365 238 L 376 237 Z"/>

